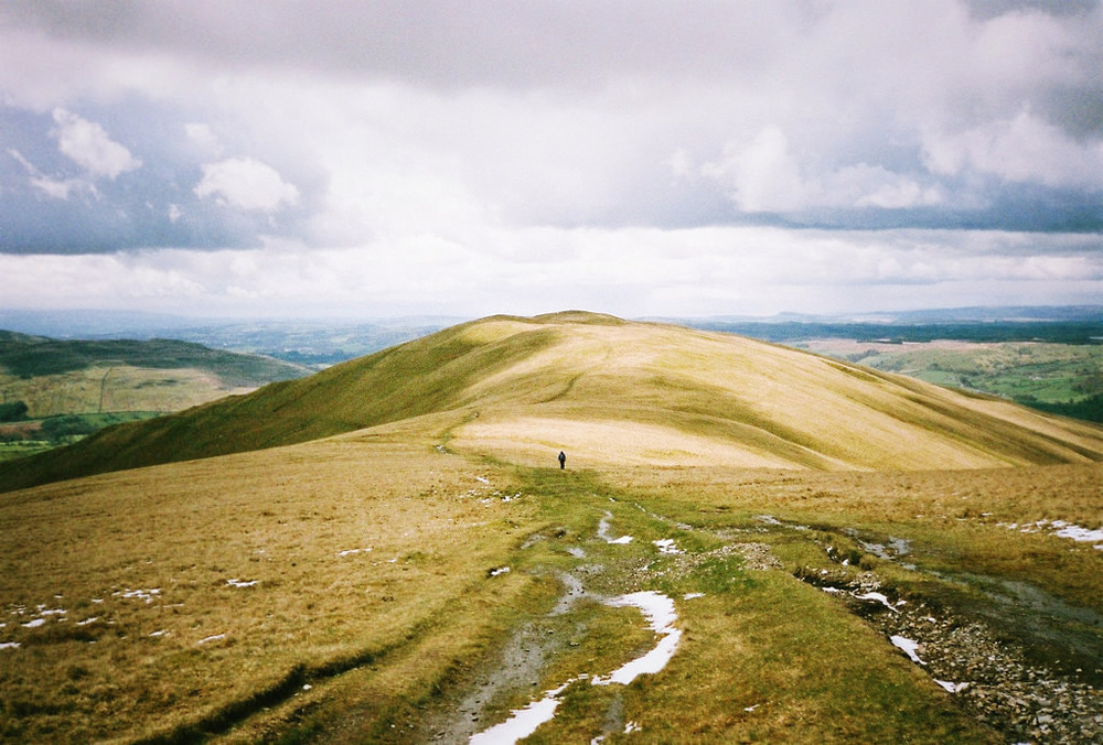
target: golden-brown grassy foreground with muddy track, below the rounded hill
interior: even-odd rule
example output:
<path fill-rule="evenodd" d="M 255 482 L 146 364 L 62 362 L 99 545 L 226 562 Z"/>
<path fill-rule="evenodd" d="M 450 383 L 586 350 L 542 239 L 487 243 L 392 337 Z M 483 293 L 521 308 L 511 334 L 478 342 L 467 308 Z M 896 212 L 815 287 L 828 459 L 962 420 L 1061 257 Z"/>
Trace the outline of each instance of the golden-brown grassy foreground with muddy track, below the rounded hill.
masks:
<path fill-rule="evenodd" d="M 1101 552 L 1006 527 L 1097 525 L 1099 465 L 560 472 L 459 421 L 0 500 L 0 741 L 458 743 L 564 684 L 531 742 L 1103 734 Z M 681 641 L 593 685 L 655 644 L 639 591 Z"/>

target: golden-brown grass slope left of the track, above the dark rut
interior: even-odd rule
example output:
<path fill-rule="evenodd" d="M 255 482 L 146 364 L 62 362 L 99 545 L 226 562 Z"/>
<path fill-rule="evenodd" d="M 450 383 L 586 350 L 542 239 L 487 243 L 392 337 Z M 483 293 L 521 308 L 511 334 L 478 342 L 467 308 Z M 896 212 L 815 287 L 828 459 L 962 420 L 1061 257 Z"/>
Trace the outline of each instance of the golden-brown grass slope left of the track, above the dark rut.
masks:
<path fill-rule="evenodd" d="M 3 650 L 3 734 L 163 733 L 218 721 L 297 668 L 324 678 L 401 648 L 522 581 L 486 575 L 533 515 L 495 484 L 428 446 L 349 438 L 10 495 L 0 638 L 22 646 Z M 341 555 L 356 549 L 371 550 Z"/>

